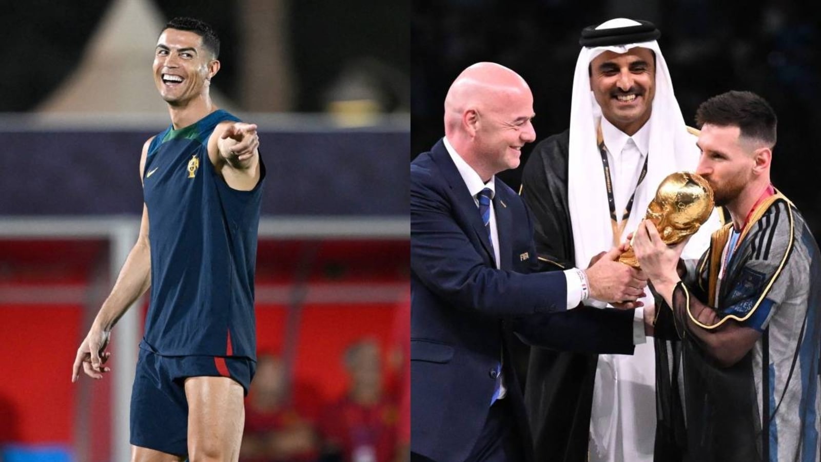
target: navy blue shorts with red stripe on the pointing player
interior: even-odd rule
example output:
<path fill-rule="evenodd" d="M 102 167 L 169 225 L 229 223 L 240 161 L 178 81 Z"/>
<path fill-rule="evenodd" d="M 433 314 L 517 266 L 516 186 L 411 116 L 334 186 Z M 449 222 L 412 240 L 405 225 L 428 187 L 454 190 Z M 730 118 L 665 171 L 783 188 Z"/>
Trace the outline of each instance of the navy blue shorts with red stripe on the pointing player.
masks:
<path fill-rule="evenodd" d="M 188 377 L 231 377 L 248 395 L 256 363 L 249 358 L 161 356 L 140 349 L 131 390 L 131 444 L 188 454 Z"/>

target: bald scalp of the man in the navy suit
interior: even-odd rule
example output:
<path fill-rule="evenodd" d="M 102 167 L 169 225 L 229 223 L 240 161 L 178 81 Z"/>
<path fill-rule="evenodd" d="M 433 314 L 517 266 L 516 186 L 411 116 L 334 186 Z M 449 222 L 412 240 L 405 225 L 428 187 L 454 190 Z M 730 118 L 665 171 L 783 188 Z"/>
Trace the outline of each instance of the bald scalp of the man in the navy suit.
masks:
<path fill-rule="evenodd" d="M 511 99 L 530 94 L 530 87 L 519 74 L 495 62 L 477 62 L 453 81 L 445 97 L 445 135 L 459 128 L 462 115 L 470 109 L 479 112 L 504 108 Z"/>

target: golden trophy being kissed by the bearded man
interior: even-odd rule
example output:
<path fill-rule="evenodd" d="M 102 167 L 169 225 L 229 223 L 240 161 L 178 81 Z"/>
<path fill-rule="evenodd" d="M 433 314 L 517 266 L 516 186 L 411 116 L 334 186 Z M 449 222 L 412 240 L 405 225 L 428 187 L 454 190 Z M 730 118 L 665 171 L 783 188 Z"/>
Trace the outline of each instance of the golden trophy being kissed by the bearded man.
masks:
<path fill-rule="evenodd" d="M 644 219 L 656 225 L 668 246 L 681 243 L 699 230 L 713 213 L 713 189 L 698 173 L 676 172 L 658 185 L 656 196 L 647 206 Z M 619 256 L 619 261 L 639 268 L 633 247 Z"/>

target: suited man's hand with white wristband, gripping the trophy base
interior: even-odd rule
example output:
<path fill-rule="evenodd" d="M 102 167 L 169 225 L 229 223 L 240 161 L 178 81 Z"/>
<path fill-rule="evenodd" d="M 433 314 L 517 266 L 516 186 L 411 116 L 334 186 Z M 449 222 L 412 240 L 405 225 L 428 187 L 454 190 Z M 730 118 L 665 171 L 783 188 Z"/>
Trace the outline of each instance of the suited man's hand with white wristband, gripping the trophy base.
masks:
<path fill-rule="evenodd" d="M 619 263 L 617 259 L 620 255 L 621 246 L 593 257 L 593 265 L 585 270 L 590 284 L 590 298 L 618 303 L 621 307 L 635 307 L 627 303 L 636 303 L 644 295 L 647 278 L 640 270 Z"/>

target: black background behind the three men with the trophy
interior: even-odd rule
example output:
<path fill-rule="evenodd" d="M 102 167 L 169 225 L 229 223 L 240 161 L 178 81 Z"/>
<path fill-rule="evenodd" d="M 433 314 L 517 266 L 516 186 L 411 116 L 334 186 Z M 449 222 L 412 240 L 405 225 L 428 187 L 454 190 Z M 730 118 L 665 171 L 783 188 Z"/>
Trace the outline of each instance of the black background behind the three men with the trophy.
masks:
<path fill-rule="evenodd" d="M 685 121 L 727 90 L 750 90 L 775 109 L 773 183 L 821 236 L 819 15 L 810 2 L 414 0 L 411 21 L 411 159 L 443 136 L 447 88 L 465 67 L 510 67 L 534 94 L 536 140 L 568 127 L 580 30 L 613 17 L 652 21 Z M 522 162 L 534 144 L 522 150 Z M 518 189 L 519 169 L 499 175 Z"/>

